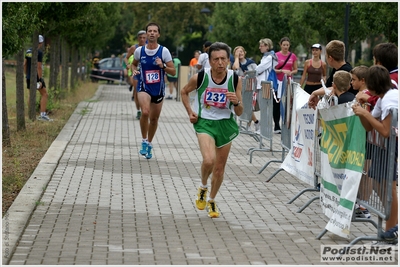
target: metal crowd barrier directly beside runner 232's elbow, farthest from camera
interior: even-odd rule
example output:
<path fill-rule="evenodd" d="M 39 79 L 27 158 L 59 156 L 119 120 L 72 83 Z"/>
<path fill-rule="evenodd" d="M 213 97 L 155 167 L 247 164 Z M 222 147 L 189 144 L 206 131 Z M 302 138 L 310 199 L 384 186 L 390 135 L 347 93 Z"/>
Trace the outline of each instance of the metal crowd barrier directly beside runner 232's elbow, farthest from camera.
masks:
<path fill-rule="evenodd" d="M 241 134 L 250 135 L 259 141 L 257 134 L 249 127 L 253 115 L 253 92 L 255 90 L 257 90 L 256 71 L 248 71 L 242 79 L 243 113 L 238 118 L 239 129 Z"/>

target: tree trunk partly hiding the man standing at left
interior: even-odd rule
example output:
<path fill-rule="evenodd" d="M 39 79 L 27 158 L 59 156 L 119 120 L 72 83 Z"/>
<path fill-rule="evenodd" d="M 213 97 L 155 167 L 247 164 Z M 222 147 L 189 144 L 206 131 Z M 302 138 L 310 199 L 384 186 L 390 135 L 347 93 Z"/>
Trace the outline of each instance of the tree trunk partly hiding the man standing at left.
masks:
<path fill-rule="evenodd" d="M 37 88 L 37 59 L 39 46 L 39 33 L 35 31 L 33 34 L 32 59 L 31 59 L 31 82 L 29 90 L 29 118 L 32 121 L 36 119 L 36 88 Z"/>

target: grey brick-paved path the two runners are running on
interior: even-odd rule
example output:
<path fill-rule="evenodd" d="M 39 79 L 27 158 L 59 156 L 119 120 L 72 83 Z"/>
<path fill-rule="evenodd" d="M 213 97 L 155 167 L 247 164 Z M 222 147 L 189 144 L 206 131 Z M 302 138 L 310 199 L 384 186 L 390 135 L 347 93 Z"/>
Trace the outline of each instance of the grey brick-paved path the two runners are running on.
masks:
<path fill-rule="evenodd" d="M 259 169 L 281 154 L 255 152 L 250 163 L 247 150 L 258 144 L 244 134 L 234 141 L 216 198 L 221 216 L 208 218 L 194 204 L 201 155 L 182 103 L 165 100 L 151 160 L 138 154 L 135 115 L 126 86 L 101 86 L 96 101 L 80 105 L 63 130 L 65 146 L 40 165 L 50 166 L 49 183 L 7 259 L 3 241 L 3 264 L 315 265 L 321 244 L 349 242 L 330 233 L 315 238 L 327 223 L 318 201 L 296 211 L 316 194 L 287 204 L 309 186 L 285 172 L 266 183 L 279 164 Z M 12 229 L 21 224 L 13 224 L 15 212 L 7 215 Z M 353 238 L 375 233 L 366 223 L 351 230 Z M 11 239 L 19 234 L 10 232 Z"/>

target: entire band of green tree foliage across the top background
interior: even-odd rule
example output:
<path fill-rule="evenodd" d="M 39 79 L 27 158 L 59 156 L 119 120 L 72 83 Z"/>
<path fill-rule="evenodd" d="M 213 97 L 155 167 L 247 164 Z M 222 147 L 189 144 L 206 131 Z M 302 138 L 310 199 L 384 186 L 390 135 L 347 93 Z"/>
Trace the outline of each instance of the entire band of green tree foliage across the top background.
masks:
<path fill-rule="evenodd" d="M 232 48 L 243 45 L 249 56 L 259 55 L 258 40 L 264 37 L 274 42 L 276 51 L 284 36 L 291 39 L 292 48 L 298 44 L 309 47 L 316 42 L 343 40 L 346 5 L 350 7 L 350 45 L 359 46 L 360 41 L 371 35 L 383 35 L 385 40 L 395 43 L 398 38 L 396 2 L 158 2 L 156 5 L 8 2 L 2 5 L 5 56 L 18 52 L 38 27 L 44 35 L 62 35 L 71 45 L 121 50 L 133 41 L 128 33 L 135 36 L 150 21 L 161 25 L 160 42 L 172 51 L 178 45 L 185 50 L 200 49 L 204 40 L 210 39 L 226 42 Z M 203 8 L 211 13 L 202 14 Z M 208 31 L 209 25 L 212 32 Z"/>

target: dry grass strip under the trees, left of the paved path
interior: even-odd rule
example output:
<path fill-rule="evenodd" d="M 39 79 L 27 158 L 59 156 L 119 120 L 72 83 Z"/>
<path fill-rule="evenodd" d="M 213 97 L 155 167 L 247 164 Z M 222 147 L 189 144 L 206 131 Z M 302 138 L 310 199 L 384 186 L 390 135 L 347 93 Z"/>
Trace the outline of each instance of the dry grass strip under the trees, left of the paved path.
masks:
<path fill-rule="evenodd" d="M 3 216 L 11 206 L 18 193 L 29 179 L 47 149 L 58 136 L 77 105 L 88 101 L 95 94 L 99 83 L 81 82 L 72 92 L 67 91 L 65 99 L 58 101 L 56 108 L 49 112 L 49 117 L 54 121 L 34 121 L 28 117 L 29 91 L 26 89 L 25 121 L 26 130 L 17 132 L 16 125 L 16 74 L 12 68 L 6 68 L 6 98 L 8 124 L 10 127 L 11 147 L 2 147 L 2 193 Z M 48 84 L 48 77 L 44 77 Z M 24 82 L 26 88 L 26 82 Z M 40 93 L 37 92 L 37 97 Z M 39 112 L 37 111 L 37 116 Z"/>

